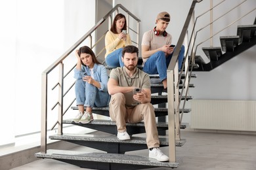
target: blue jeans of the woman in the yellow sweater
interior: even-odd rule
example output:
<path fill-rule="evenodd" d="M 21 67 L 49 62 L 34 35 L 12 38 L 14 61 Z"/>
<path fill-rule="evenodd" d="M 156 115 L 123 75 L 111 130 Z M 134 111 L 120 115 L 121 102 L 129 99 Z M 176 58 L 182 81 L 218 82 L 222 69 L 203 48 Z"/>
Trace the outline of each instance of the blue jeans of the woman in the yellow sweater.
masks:
<path fill-rule="evenodd" d="M 123 67 L 123 61 L 122 61 L 122 50 L 123 48 L 119 48 L 117 50 L 114 50 L 114 52 L 108 54 L 106 56 L 106 64 L 110 67 Z"/>

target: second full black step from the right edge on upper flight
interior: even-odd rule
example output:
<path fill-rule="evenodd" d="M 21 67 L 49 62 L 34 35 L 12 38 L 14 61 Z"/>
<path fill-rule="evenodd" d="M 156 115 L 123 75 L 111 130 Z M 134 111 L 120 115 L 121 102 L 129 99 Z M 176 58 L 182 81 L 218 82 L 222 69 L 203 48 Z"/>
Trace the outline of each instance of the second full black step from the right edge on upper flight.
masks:
<path fill-rule="evenodd" d="M 239 38 L 238 35 L 221 36 L 220 40 L 223 52 L 234 52 L 234 48 L 238 46 Z"/>

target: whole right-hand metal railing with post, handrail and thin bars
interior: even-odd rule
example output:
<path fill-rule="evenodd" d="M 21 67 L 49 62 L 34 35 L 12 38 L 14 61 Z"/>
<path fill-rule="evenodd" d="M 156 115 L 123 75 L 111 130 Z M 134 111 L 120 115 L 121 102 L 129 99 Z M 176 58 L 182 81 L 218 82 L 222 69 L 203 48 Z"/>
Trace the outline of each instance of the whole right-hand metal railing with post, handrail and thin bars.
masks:
<path fill-rule="evenodd" d="M 225 1 L 225 0 L 224 0 Z M 215 5 L 215 7 L 217 7 L 218 5 L 220 5 L 221 3 L 223 3 L 224 1 L 221 1 L 220 3 L 218 3 L 217 5 Z M 245 0 L 247 1 L 247 0 Z M 236 5 L 236 7 L 234 7 L 233 9 L 237 9 L 239 6 L 242 5 L 242 3 L 244 3 L 245 1 L 239 3 L 238 5 Z M 200 1 L 198 1 L 199 3 Z M 179 81 L 181 80 L 181 75 L 182 75 L 182 71 L 184 69 L 184 64 L 182 65 L 182 70 L 180 75 L 178 76 L 178 69 L 177 69 L 177 61 L 178 61 L 178 55 L 179 55 L 179 51 L 181 50 L 181 46 L 182 46 L 182 42 L 184 41 L 185 38 L 185 34 L 187 33 L 186 31 L 188 30 L 188 25 L 190 23 L 190 21 L 192 20 L 194 22 L 193 27 L 192 27 L 192 33 L 191 33 L 191 37 L 190 37 L 190 41 L 188 42 L 188 49 L 186 50 L 186 54 L 185 54 L 185 58 L 184 58 L 184 63 L 186 64 L 194 63 L 194 59 L 196 56 L 196 50 L 198 48 L 198 46 L 200 44 L 202 44 L 203 42 L 211 39 L 212 37 L 214 37 L 215 35 L 217 35 L 218 33 L 220 33 L 221 31 L 223 31 L 224 29 L 226 29 L 227 27 L 229 27 L 230 25 L 234 24 L 235 22 L 237 22 L 238 20 L 244 18 L 244 16 L 246 16 L 247 14 L 253 12 L 255 9 L 250 10 L 249 12 L 247 12 L 247 14 L 244 14 L 244 16 L 241 16 L 240 18 L 238 18 L 237 20 L 235 20 L 234 22 L 232 22 L 231 24 L 227 24 L 223 29 L 221 29 L 220 31 L 218 31 L 217 33 L 210 35 L 209 38 L 207 38 L 205 41 L 200 42 L 196 48 L 195 46 L 195 42 L 196 42 L 196 35 L 198 34 L 199 31 L 201 31 L 203 28 L 207 27 L 207 25 L 211 25 L 213 24 L 213 22 L 215 22 L 216 20 L 219 20 L 219 18 L 223 17 L 225 14 L 227 14 L 228 12 L 230 12 L 231 10 L 228 10 L 225 14 L 223 14 L 222 16 L 220 16 L 219 18 L 217 18 L 214 21 L 211 21 L 209 24 L 207 24 L 206 26 L 202 27 L 201 29 L 199 29 L 198 31 L 196 31 L 196 35 L 195 35 L 195 26 L 196 26 L 196 22 L 198 20 L 198 18 L 200 18 L 201 16 L 203 16 L 205 13 L 209 12 L 210 10 L 214 9 L 215 7 L 210 8 L 209 10 L 207 10 L 206 12 L 203 12 L 203 14 L 200 14 L 197 18 L 196 21 L 194 20 L 194 6 L 196 5 L 196 2 L 193 1 L 191 7 L 190 7 L 190 12 L 188 12 L 188 16 L 186 18 L 186 22 L 184 24 L 184 27 L 182 29 L 181 32 L 181 36 L 179 37 L 179 41 L 177 42 L 177 46 L 175 49 L 175 52 L 173 54 L 173 57 L 171 58 L 171 62 L 169 64 L 169 67 L 167 69 L 167 87 L 168 87 L 168 122 L 169 122 L 169 156 L 170 156 L 170 161 L 175 161 L 175 152 L 173 152 L 173 150 L 175 150 L 175 143 L 171 143 L 171 138 L 175 138 L 175 141 L 179 141 L 180 140 L 180 126 L 181 126 L 181 121 L 182 121 L 182 116 L 183 116 L 183 111 L 181 112 L 181 117 L 179 116 L 179 107 L 181 105 L 181 96 L 183 93 L 184 88 L 186 88 L 186 94 L 185 94 L 185 99 L 184 99 L 184 103 L 182 106 L 182 110 L 184 110 L 184 106 L 186 103 L 186 97 L 188 95 L 188 84 L 190 82 L 190 78 L 192 75 L 192 71 L 193 71 L 193 67 L 191 67 L 191 69 L 189 67 L 187 67 L 185 69 L 185 78 L 184 81 L 185 83 L 182 84 L 182 90 L 181 90 L 181 95 L 179 96 Z M 191 50 L 191 57 L 188 59 L 189 61 L 187 61 L 188 58 L 188 50 L 190 48 L 190 46 L 192 47 Z M 189 76 L 188 76 L 188 72 L 189 72 Z M 179 78 L 177 78 L 179 77 Z M 186 80 L 188 78 L 188 80 Z M 179 97 L 177 97 L 179 96 Z M 179 101 L 178 101 L 179 100 Z M 175 123 L 173 124 L 173 121 L 175 121 Z M 173 127 L 176 127 L 175 130 L 173 130 Z"/>

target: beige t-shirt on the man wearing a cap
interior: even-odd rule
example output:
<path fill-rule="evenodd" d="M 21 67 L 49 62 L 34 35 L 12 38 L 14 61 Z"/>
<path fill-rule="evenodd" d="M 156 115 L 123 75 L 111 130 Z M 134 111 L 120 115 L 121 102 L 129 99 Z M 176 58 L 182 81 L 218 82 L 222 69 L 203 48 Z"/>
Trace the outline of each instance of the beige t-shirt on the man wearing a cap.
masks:
<path fill-rule="evenodd" d="M 164 45 L 171 45 L 173 37 L 171 34 L 167 33 L 167 36 L 155 35 L 153 30 L 146 31 L 142 37 L 142 46 L 149 46 L 149 50 L 156 50 Z M 143 59 L 143 63 L 146 62 L 148 58 Z"/>

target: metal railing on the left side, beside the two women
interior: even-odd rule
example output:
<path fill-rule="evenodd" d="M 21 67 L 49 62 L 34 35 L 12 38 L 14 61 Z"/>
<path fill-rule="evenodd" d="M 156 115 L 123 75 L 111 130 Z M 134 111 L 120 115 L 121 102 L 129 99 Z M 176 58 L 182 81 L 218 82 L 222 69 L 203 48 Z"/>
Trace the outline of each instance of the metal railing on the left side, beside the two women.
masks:
<path fill-rule="evenodd" d="M 42 87 L 41 87 L 41 98 L 42 98 L 42 101 L 41 101 L 41 152 L 42 153 L 47 152 L 47 101 L 48 101 L 48 98 L 47 98 L 48 87 L 47 86 L 48 86 L 49 73 L 51 73 L 51 71 L 53 71 L 53 69 L 55 69 L 59 65 L 59 80 L 58 80 L 58 83 L 56 83 L 55 86 L 53 87 L 53 89 L 54 89 L 54 88 L 56 88 L 56 86 L 58 86 L 58 102 L 56 104 L 56 105 L 58 105 L 58 121 L 54 124 L 54 126 L 58 125 L 58 133 L 62 134 L 62 116 L 68 110 L 68 109 L 66 109 L 65 111 L 63 111 L 63 97 L 70 90 L 70 88 L 69 88 L 66 93 L 63 92 L 64 78 L 75 67 L 75 66 L 72 67 L 72 69 L 70 69 L 70 71 L 68 71 L 68 73 L 66 75 L 64 75 L 63 61 L 75 50 L 75 48 L 77 48 L 77 46 L 79 46 L 79 44 L 81 44 L 83 41 L 85 41 L 85 39 L 87 39 L 87 38 L 92 39 L 91 34 L 94 31 L 96 31 L 96 29 L 100 25 L 102 25 L 108 18 L 111 18 L 112 13 L 118 9 L 122 9 L 124 12 L 127 13 L 127 15 L 131 16 L 134 20 L 136 20 L 137 23 L 140 22 L 139 18 L 137 18 L 137 16 L 135 16 L 129 10 L 127 10 L 125 7 L 123 7 L 123 5 L 121 5 L 121 4 L 116 5 L 116 7 L 114 7 L 112 10 L 110 10 L 110 12 L 108 12 L 99 22 L 97 22 L 94 27 L 92 27 L 87 33 L 85 33 L 85 35 L 83 35 L 83 37 L 81 37 L 77 42 L 75 42 L 74 45 L 72 45 L 68 50 L 66 50 L 66 52 L 64 52 L 64 54 L 62 54 L 62 56 L 60 56 L 60 58 L 56 59 L 56 61 L 54 61 L 49 67 L 47 67 L 47 69 L 45 69 L 45 71 L 43 71 L 42 77 L 41 77 L 41 83 L 42 83 Z M 129 27 L 129 24 L 127 26 Z M 138 30 L 138 34 L 139 34 L 139 24 L 137 24 L 137 30 Z M 133 29 L 132 29 L 132 31 L 133 31 Z M 103 37 L 104 37 L 104 35 L 98 41 L 102 40 Z M 96 42 L 96 44 L 98 43 L 98 41 Z M 137 44 L 139 44 L 139 35 L 137 35 Z M 93 46 L 93 47 L 95 47 L 95 46 Z M 103 50 L 100 50 L 99 54 L 101 54 L 103 52 Z M 74 85 L 72 85 L 72 86 L 74 86 Z M 72 101 L 72 103 L 74 103 L 74 101 Z M 54 128 L 54 126 L 52 127 L 52 129 Z"/>

